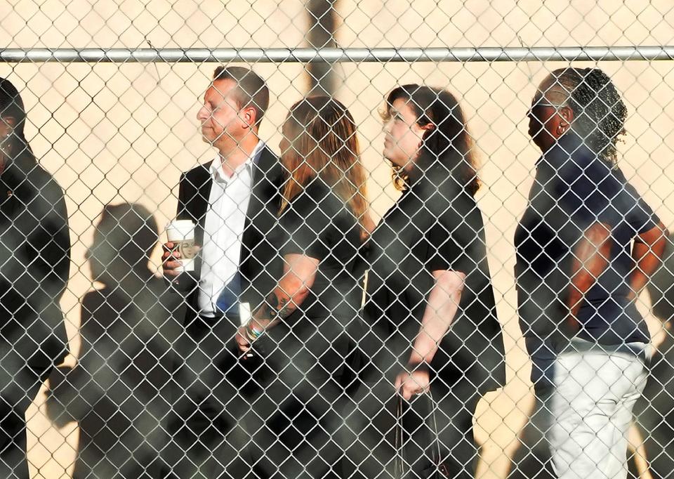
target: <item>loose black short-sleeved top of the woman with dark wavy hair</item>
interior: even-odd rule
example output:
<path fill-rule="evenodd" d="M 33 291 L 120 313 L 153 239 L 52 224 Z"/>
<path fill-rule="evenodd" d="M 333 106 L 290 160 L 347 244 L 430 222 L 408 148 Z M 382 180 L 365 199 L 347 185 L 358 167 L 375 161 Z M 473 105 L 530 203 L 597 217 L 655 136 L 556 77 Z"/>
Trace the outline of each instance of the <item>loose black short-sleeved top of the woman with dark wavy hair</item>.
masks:
<path fill-rule="evenodd" d="M 447 173 L 427 171 L 384 216 L 369 247 L 364 319 L 370 334 L 362 348 L 376 369 L 392 378 L 407 364 L 435 285 L 432 272 L 455 270 L 466 275 L 465 288 L 432 367 L 447 381 L 465 377 L 482 392 L 502 386 L 503 337 L 475 199 Z"/>

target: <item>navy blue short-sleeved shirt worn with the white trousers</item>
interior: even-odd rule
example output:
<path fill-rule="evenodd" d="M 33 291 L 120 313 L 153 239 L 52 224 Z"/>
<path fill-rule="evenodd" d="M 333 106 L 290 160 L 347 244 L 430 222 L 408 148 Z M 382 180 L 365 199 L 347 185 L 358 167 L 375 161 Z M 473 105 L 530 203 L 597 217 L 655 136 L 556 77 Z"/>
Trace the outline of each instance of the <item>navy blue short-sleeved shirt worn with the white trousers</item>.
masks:
<path fill-rule="evenodd" d="M 630 294 L 631 242 L 659 218 L 622 171 L 574 133 L 562 136 L 536 162 L 529 204 L 515 231 L 518 312 L 524 336 L 547 341 L 569 314 L 571 262 L 583 232 L 597 221 L 611 230 L 604 273 L 581 300 L 579 336 L 600 344 L 649 341 Z"/>

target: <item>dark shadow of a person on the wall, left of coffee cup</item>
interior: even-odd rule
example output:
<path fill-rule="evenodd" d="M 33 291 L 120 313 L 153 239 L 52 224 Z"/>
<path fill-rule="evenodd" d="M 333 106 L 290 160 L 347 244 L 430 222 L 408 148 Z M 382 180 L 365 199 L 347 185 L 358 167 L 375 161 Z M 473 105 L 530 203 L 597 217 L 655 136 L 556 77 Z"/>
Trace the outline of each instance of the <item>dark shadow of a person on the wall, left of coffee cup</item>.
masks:
<path fill-rule="evenodd" d="M 48 400 L 58 426 L 79 422 L 74 478 L 159 473 L 177 332 L 164 282 L 148 268 L 157 239 L 157 222 L 143 206 L 103 209 L 87 256 L 104 287 L 82 300 L 79 363 L 51 376 Z"/>

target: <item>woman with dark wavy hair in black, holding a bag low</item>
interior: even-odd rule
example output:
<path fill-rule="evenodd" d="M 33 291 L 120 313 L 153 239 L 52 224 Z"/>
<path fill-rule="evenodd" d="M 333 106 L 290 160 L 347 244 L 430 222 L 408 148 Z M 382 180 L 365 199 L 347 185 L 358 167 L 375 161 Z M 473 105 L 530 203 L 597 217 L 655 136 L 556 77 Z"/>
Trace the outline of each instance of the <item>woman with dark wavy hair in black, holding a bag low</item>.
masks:
<path fill-rule="evenodd" d="M 369 241 L 360 341 L 369 364 L 350 415 L 356 471 L 346 476 L 396 477 L 401 454 L 419 477 L 442 463 L 450 477 L 472 478 L 475 406 L 505 381 L 473 142 L 445 90 L 395 88 L 382 116 L 383 156 L 403 192 Z M 402 445 L 394 437 L 401 400 Z"/>

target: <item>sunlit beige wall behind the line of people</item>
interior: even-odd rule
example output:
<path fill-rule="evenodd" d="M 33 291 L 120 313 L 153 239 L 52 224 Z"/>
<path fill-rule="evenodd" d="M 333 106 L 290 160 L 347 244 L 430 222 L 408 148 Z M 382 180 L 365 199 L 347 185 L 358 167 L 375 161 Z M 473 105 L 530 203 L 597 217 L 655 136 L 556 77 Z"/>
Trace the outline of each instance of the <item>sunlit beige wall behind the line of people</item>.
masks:
<path fill-rule="evenodd" d="M 668 0 L 339 0 L 341 46 L 572 46 L 672 44 Z M 0 4 L 0 44 L 10 47 L 271 47 L 304 46 L 307 22 L 299 0 L 12 0 Z M 481 477 L 504 477 L 508 454 L 527 419 L 529 362 L 515 316 L 513 233 L 524 210 L 538 152 L 525 113 L 536 84 L 564 63 L 341 64 L 337 97 L 359 123 L 371 170 L 375 216 L 395 201 L 381 159 L 378 110 L 396 84 L 444 86 L 461 98 L 482 161 L 479 202 L 487 222 L 489 263 L 498 315 L 506 332 L 508 386 L 477 414 L 485 442 Z M 579 64 L 588 66 L 589 64 Z M 621 166 L 668 225 L 674 223 L 670 148 L 673 63 L 602 63 L 630 107 Z M 195 115 L 214 65 L 0 65 L 29 110 L 27 135 L 41 163 L 67 192 L 73 244 L 71 279 L 62 305 L 77 356 L 79 298 L 92 287 L 84 251 L 92 224 L 109 202 L 141 202 L 160 224 L 176 208 L 180 171 L 213 155 L 201 143 Z M 268 80 L 272 106 L 261 136 L 277 149 L 289 105 L 305 92 L 301 65 L 253 65 Z M 155 251 L 154 259 L 159 258 Z M 648 299 L 640 308 L 647 313 Z M 651 321 L 653 332 L 658 326 Z M 74 357 L 72 358 L 74 362 Z M 41 402 L 41 396 L 37 404 Z M 77 428 L 52 428 L 38 407 L 29 412 L 29 459 L 35 477 L 68 477 Z"/>

